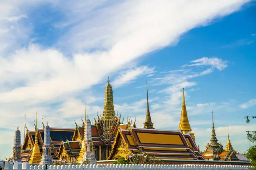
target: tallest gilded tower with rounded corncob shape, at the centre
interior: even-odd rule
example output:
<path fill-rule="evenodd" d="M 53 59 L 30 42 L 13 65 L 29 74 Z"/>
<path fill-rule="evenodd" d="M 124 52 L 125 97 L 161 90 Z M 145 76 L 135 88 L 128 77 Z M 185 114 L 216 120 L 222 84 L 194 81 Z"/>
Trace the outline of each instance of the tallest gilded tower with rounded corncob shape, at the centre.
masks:
<path fill-rule="evenodd" d="M 113 101 L 113 90 L 112 86 L 110 85 L 109 77 L 108 84 L 105 87 L 105 101 L 101 119 L 104 122 L 103 136 L 106 140 L 110 140 L 113 136 L 111 129 L 112 123 L 115 120 L 115 110 Z"/>

